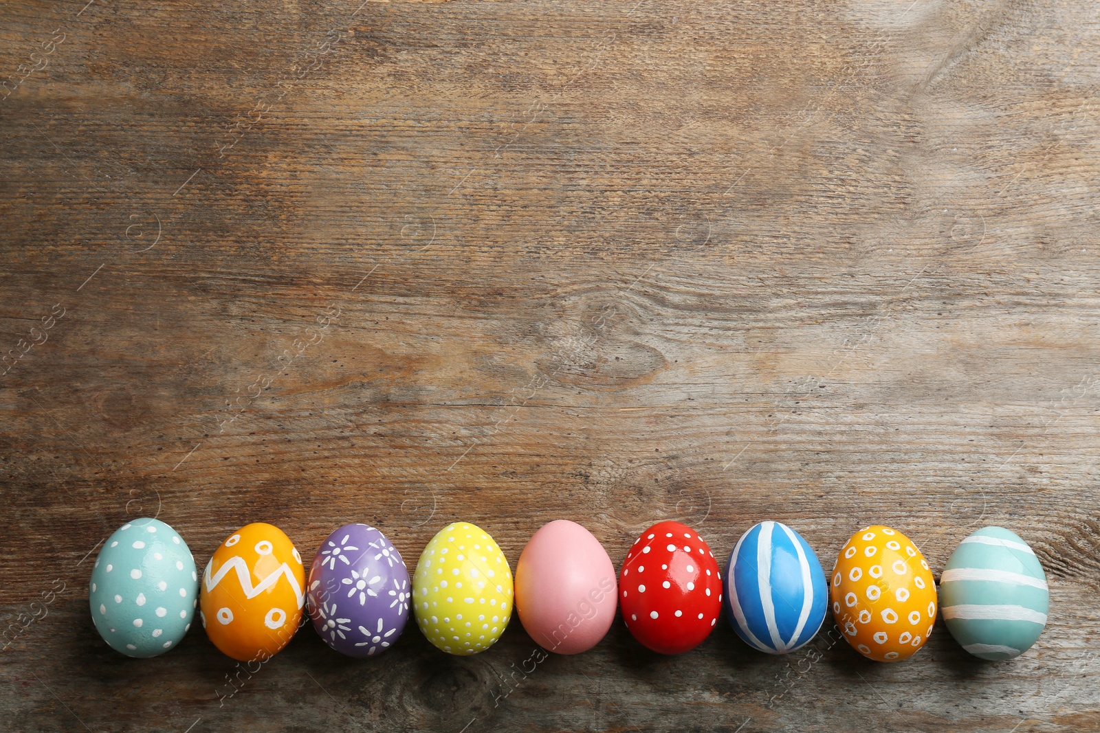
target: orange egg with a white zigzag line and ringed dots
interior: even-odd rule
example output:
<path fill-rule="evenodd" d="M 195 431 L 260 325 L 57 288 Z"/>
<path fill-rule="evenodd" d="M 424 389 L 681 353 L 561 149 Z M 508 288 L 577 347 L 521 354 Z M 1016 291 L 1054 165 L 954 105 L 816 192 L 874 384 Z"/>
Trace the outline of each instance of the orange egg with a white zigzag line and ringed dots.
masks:
<path fill-rule="evenodd" d="M 218 546 L 202 574 L 207 636 L 239 662 L 262 662 L 286 646 L 301 621 L 301 555 L 277 526 L 242 526 Z"/>

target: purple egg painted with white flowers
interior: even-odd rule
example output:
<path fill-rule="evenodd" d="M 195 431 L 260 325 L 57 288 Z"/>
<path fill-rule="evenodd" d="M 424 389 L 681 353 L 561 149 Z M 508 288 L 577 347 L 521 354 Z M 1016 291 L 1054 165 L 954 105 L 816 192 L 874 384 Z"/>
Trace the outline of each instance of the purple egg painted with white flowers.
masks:
<path fill-rule="evenodd" d="M 306 580 L 309 618 L 324 643 L 375 656 L 402 635 L 413 587 L 402 554 L 367 524 L 344 524 L 321 543 Z"/>

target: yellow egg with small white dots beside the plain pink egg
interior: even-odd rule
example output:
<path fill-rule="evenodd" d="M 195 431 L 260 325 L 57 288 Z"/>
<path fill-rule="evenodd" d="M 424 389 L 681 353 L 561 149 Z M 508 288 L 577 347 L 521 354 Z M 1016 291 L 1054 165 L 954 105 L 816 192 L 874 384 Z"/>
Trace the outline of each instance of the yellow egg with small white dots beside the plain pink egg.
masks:
<path fill-rule="evenodd" d="M 493 537 L 470 522 L 439 531 L 420 553 L 413 609 L 420 632 L 449 654 L 493 646 L 512 617 L 512 570 Z"/>

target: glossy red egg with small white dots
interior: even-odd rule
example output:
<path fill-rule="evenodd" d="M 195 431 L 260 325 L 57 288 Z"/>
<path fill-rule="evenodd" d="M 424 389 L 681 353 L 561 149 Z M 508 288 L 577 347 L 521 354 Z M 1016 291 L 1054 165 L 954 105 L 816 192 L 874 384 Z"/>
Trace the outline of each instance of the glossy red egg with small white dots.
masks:
<path fill-rule="evenodd" d="M 650 649 L 695 648 L 722 610 L 722 575 L 711 547 L 680 522 L 649 527 L 623 560 L 619 608 L 626 628 Z"/>

